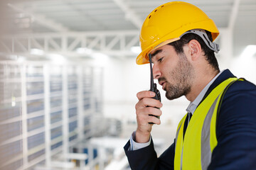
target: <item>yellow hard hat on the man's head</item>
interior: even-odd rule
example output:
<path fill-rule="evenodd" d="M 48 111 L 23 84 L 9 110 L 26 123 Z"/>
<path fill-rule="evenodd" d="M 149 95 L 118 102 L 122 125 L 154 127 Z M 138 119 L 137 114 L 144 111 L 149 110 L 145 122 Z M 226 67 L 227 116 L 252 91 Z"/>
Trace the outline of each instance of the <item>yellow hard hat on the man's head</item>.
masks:
<path fill-rule="evenodd" d="M 200 8 L 182 1 L 172 1 L 154 9 L 146 17 L 139 35 L 142 52 L 137 64 L 149 63 L 149 53 L 158 47 L 180 39 L 188 30 L 208 30 L 213 40 L 219 31 L 215 23 Z"/>

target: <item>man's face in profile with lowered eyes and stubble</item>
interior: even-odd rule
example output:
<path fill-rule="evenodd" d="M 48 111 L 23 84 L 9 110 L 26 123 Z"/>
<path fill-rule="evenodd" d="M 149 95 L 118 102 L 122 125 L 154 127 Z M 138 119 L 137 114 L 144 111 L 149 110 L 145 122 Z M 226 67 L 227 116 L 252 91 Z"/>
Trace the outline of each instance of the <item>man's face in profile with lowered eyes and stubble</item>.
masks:
<path fill-rule="evenodd" d="M 194 69 L 185 53 L 178 55 L 174 47 L 164 45 L 151 54 L 154 56 L 154 77 L 166 91 L 166 98 L 173 100 L 186 96 L 191 91 Z"/>

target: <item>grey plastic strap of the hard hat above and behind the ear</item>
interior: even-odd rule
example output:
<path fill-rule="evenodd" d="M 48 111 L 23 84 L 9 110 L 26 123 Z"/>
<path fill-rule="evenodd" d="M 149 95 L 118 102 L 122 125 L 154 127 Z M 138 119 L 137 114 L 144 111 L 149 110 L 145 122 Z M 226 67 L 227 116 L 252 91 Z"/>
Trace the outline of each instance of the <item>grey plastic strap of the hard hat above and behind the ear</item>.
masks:
<path fill-rule="evenodd" d="M 218 53 L 218 51 L 220 50 L 220 47 L 217 43 L 215 42 L 211 42 L 206 34 L 205 30 L 202 29 L 194 29 L 194 30 L 188 30 L 186 33 L 183 33 L 180 38 L 187 34 L 187 33 L 194 33 L 196 35 L 199 35 L 204 42 L 206 42 L 206 45 L 210 48 L 210 50 L 213 50 L 214 52 Z"/>

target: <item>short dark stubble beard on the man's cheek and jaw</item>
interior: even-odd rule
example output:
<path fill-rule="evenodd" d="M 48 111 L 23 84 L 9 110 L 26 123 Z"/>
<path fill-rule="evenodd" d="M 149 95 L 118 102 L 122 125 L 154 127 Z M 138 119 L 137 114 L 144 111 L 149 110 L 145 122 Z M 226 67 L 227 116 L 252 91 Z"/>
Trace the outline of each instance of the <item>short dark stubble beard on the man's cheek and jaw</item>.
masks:
<path fill-rule="evenodd" d="M 159 81 L 166 81 L 164 90 L 166 91 L 166 98 L 173 100 L 181 96 L 186 96 L 191 91 L 191 86 L 194 78 L 194 69 L 190 62 L 188 62 L 186 55 L 179 55 L 178 64 L 167 75 L 173 79 L 173 83 L 166 80 L 165 77 L 160 77 Z"/>

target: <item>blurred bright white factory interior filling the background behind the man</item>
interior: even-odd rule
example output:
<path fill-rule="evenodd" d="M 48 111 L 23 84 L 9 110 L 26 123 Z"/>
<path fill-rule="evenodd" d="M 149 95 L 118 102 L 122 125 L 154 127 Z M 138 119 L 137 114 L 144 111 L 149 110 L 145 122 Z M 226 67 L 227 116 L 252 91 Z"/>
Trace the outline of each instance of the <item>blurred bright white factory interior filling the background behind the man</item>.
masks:
<path fill-rule="evenodd" d="M 122 147 L 137 127 L 136 94 L 150 78 L 149 64 L 135 63 L 139 30 L 166 2 L 1 0 L 1 170 L 130 169 Z M 256 84 L 256 1 L 187 2 L 220 30 L 220 69 Z M 160 92 L 158 154 L 189 103 Z"/>

